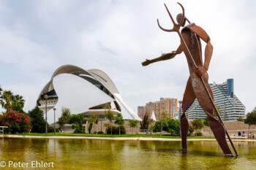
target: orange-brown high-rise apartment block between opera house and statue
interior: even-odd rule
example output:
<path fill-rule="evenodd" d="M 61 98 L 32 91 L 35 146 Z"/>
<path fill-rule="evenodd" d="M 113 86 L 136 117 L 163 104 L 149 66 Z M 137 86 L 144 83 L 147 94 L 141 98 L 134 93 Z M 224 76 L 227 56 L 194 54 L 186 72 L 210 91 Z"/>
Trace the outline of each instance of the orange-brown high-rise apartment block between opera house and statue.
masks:
<path fill-rule="evenodd" d="M 148 102 L 146 106 L 138 107 L 138 116 L 143 118 L 144 115 L 151 117 L 154 115 L 157 120 L 161 119 L 162 112 L 166 112 L 168 117 L 174 118 L 174 113 L 178 112 L 178 99 L 177 98 L 160 98 L 160 101 Z"/>

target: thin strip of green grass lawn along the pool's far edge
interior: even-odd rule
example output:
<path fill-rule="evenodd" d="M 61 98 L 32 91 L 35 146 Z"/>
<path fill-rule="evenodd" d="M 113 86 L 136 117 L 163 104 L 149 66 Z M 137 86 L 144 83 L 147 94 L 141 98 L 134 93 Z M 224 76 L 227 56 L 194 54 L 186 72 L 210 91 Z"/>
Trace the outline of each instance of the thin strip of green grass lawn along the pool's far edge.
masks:
<path fill-rule="evenodd" d="M 146 134 L 60 134 L 59 132 L 54 135 L 54 133 L 45 134 L 38 134 L 38 133 L 27 133 L 27 134 L 16 134 L 22 136 L 86 136 L 86 137 L 153 137 L 153 138 L 170 138 L 170 139 L 179 139 L 179 136 L 170 136 L 170 135 L 159 135 L 159 134 L 152 134 L 152 136 L 146 136 Z M 214 137 L 207 137 L 207 136 L 188 136 L 188 139 L 214 139 Z"/>

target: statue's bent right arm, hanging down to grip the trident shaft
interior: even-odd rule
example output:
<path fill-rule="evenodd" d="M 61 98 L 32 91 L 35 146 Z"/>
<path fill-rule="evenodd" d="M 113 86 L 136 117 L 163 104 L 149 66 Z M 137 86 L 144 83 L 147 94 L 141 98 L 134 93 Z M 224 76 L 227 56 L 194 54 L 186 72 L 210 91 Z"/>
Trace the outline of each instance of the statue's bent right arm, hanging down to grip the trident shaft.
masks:
<path fill-rule="evenodd" d="M 211 61 L 211 55 L 213 52 L 214 47 L 211 45 L 211 39 L 210 36 L 206 33 L 206 31 L 203 30 L 200 26 L 195 26 L 195 23 L 190 24 L 187 26 L 191 31 L 193 31 L 197 36 L 199 36 L 201 39 L 203 39 L 204 42 L 206 42 L 206 50 L 205 50 L 205 62 L 204 62 L 204 68 L 206 71 L 209 68 L 210 61 Z"/>

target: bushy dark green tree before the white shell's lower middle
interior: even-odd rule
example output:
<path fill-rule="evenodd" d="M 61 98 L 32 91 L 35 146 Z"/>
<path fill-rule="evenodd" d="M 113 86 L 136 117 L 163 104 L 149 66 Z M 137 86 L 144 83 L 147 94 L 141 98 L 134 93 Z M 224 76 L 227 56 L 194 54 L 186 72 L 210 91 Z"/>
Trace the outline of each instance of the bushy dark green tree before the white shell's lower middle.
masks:
<path fill-rule="evenodd" d="M 72 128 L 75 128 L 74 134 L 83 134 L 84 133 L 83 121 L 84 121 L 84 115 L 78 114 L 78 115 L 71 115 L 69 117 L 69 120 L 67 120 L 67 123 L 69 124 L 75 123 L 75 127 L 74 126 L 72 127 Z"/>

